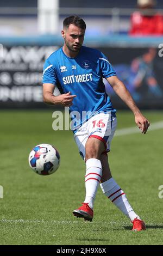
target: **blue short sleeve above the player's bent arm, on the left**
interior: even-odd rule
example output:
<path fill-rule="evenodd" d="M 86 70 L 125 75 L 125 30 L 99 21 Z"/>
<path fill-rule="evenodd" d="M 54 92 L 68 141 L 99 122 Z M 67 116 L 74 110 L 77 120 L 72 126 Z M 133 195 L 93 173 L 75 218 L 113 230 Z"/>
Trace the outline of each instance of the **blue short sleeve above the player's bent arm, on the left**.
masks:
<path fill-rule="evenodd" d="M 49 62 L 49 60 L 46 60 L 45 64 L 43 65 L 42 83 L 52 83 L 55 85 L 57 84 L 57 75 L 55 72 L 55 68 Z"/>

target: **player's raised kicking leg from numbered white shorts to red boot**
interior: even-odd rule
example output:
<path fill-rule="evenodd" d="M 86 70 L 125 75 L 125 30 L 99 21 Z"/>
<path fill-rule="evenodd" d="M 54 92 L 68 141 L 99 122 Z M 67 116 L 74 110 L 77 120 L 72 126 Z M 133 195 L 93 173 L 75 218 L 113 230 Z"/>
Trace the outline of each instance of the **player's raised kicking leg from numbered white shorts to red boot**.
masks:
<path fill-rule="evenodd" d="M 83 206 L 74 210 L 73 214 L 78 217 L 84 217 L 85 219 L 87 214 L 88 220 L 92 220 L 93 217 L 93 203 L 102 175 L 102 165 L 99 158 L 106 147 L 103 135 L 105 135 L 108 125 L 108 116 L 111 117 L 110 114 L 105 113 L 95 115 L 75 135 L 79 153 L 83 156 L 86 163 L 86 196 Z M 85 132 L 85 137 L 82 131 Z"/>

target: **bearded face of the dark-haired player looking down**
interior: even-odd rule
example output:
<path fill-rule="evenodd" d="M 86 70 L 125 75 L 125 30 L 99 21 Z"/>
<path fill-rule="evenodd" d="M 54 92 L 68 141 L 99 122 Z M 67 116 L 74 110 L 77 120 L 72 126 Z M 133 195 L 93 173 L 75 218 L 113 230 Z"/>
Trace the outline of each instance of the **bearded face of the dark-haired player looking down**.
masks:
<path fill-rule="evenodd" d="M 85 29 L 70 24 L 68 28 L 62 31 L 65 44 L 68 50 L 78 52 L 84 41 Z"/>

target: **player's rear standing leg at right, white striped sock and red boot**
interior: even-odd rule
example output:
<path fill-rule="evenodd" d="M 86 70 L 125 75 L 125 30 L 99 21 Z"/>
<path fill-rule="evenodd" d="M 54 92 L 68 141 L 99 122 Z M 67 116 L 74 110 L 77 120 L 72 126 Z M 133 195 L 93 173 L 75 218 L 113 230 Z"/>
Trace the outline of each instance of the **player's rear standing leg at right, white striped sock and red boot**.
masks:
<path fill-rule="evenodd" d="M 116 181 L 112 178 L 108 157 L 105 154 L 102 154 L 101 157 L 102 163 L 102 178 L 101 178 L 101 189 L 106 197 L 108 197 L 118 209 L 122 211 L 124 215 L 130 218 L 131 222 L 133 222 L 133 230 L 142 230 L 146 229 L 145 223 L 140 220 L 140 217 L 135 214 L 133 208 L 128 202 L 126 194 L 121 189 L 121 187 L 116 183 Z"/>

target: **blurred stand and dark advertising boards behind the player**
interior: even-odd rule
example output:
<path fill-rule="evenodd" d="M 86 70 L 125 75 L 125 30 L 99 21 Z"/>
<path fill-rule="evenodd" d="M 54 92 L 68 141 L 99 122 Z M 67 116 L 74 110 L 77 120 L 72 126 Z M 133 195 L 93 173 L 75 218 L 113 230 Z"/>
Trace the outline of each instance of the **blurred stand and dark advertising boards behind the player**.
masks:
<path fill-rule="evenodd" d="M 162 108 L 163 65 L 158 51 L 163 35 L 129 35 L 136 3 L 1 0 L 0 107 L 47 107 L 42 103 L 40 86 L 43 62 L 63 43 L 60 31 L 64 18 L 76 14 L 86 21 L 84 44 L 104 52 L 138 105 Z M 163 14 L 161 0 L 155 8 Z M 115 107 L 125 107 L 107 85 L 106 90 Z"/>

